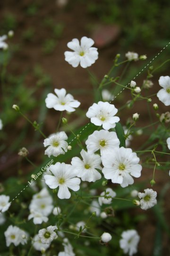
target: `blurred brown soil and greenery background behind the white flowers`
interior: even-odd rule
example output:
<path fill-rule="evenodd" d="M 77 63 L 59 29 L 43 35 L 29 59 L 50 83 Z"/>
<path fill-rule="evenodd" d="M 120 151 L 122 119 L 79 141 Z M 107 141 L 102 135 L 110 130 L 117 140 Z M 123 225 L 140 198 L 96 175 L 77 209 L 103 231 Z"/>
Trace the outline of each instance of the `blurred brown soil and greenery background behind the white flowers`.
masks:
<path fill-rule="evenodd" d="M 73 68 L 64 60 L 69 41 L 83 36 L 93 38 L 94 46 L 99 49 L 99 59 L 90 70 L 99 81 L 110 70 L 116 54 L 120 54 L 120 60 L 125 59 L 127 51 L 146 54 L 147 60 L 128 67 L 127 75 L 122 80 L 124 85 L 170 42 L 169 0 L 5 0 L 0 1 L 0 20 L 0 36 L 9 30 L 14 31 L 14 37 L 7 41 L 8 51 L 0 50 L 1 84 L 5 85 L 0 93 L 0 119 L 3 123 L 0 131 L 0 177 L 4 182 L 8 177 L 21 174 L 26 182 L 24 175 L 30 176 L 33 171 L 32 166 L 17 155 L 21 147 L 28 149 L 29 157 L 36 165 L 41 165 L 44 159 L 42 137 L 12 109 L 13 104 L 19 105 L 32 121 L 36 120 L 49 136 L 57 127 L 59 114 L 47 109 L 44 100 L 54 88 L 65 88 L 81 102 L 75 113 L 66 114 L 70 127 L 76 129 L 88 122 L 85 113 L 95 100 L 93 80 L 85 69 Z M 169 56 L 170 46 L 152 65 L 161 64 Z M 120 68 L 118 75 L 121 71 Z M 159 69 L 152 79 L 154 86 L 149 94 L 160 90 L 158 79 L 160 75 L 170 75 L 169 71 L 168 63 Z M 145 77 L 146 71 L 137 79 L 138 86 L 142 85 Z M 119 92 L 113 85 L 108 89 L 114 95 Z M 129 99 L 127 91 L 115 100 L 117 108 Z M 168 111 L 156 97 L 153 103 L 159 104 L 160 113 Z M 121 116 L 122 124 L 126 125 L 127 115 L 136 111 L 140 113 L 139 126 L 147 125 L 148 111 L 140 103 L 135 109 L 125 110 Z M 136 141 L 140 146 L 144 138 L 138 137 Z M 136 141 L 132 141 L 132 146 L 136 146 Z M 147 175 L 150 174 L 146 173 L 145 177 Z M 152 173 L 148 179 L 151 177 Z M 12 180 L 11 184 L 16 181 Z M 165 178 L 158 174 L 158 191 L 161 191 L 164 182 Z M 170 222 L 168 201 L 167 195 L 164 216 Z M 130 214 L 133 218 L 133 212 Z M 143 236 L 138 255 L 170 255 L 166 232 L 162 233 L 162 254 L 153 253 L 153 248 L 156 248 L 156 218 L 151 213 L 138 225 Z M 163 225 L 166 226 L 166 223 Z"/>

